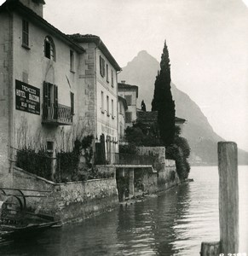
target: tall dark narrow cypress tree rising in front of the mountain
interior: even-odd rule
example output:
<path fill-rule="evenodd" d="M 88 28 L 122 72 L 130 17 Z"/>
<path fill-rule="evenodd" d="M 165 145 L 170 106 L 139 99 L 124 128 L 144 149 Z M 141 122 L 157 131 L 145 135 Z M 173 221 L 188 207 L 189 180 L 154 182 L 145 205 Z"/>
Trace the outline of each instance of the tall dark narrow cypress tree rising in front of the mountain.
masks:
<path fill-rule="evenodd" d="M 152 111 L 158 111 L 160 137 L 165 146 L 174 142 L 175 135 L 175 102 L 172 99 L 170 81 L 170 58 L 165 41 L 152 102 Z"/>

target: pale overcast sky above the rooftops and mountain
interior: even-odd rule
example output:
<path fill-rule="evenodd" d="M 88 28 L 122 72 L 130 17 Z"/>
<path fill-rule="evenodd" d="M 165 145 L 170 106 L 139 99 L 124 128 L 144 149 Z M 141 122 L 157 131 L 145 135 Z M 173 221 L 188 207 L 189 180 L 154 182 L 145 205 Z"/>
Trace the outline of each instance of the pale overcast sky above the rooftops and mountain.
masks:
<path fill-rule="evenodd" d="M 45 20 L 100 36 L 121 67 L 143 49 L 160 61 L 166 39 L 176 87 L 217 134 L 248 151 L 248 0 L 45 2 Z"/>

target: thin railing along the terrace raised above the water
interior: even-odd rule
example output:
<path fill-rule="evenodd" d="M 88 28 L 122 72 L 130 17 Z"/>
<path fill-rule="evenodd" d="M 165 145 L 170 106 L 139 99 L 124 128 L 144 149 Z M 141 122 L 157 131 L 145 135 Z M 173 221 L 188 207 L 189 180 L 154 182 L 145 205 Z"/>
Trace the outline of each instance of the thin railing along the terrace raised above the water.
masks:
<path fill-rule="evenodd" d="M 138 154 L 114 154 L 114 165 L 144 165 L 153 166 L 155 159 L 150 155 L 138 155 Z"/>

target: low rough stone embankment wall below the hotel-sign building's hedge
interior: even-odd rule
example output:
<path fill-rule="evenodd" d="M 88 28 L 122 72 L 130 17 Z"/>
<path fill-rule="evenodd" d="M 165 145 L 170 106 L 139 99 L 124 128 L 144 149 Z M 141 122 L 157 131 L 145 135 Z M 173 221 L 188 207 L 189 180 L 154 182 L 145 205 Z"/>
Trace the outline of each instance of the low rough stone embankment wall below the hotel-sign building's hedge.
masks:
<path fill-rule="evenodd" d="M 36 213 L 52 215 L 63 223 L 88 218 L 118 205 L 115 178 L 53 183 L 14 168 L 14 187 L 47 191 L 25 191 L 25 195 L 48 195 L 46 198 L 28 198 L 27 207 Z"/>

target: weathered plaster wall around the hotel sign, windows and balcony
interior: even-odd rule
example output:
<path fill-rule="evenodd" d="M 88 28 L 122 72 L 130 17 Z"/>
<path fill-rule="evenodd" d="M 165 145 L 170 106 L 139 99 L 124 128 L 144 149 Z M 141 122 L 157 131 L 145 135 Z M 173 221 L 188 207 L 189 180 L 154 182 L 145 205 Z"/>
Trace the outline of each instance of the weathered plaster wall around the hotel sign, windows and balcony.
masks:
<path fill-rule="evenodd" d="M 28 20 L 28 17 L 26 17 Z M 72 148 L 72 133 L 78 131 L 79 108 L 78 104 L 78 54 L 69 45 L 63 43 L 56 34 L 50 34 L 42 26 L 37 26 L 29 21 L 29 47 L 22 47 L 22 17 L 14 14 L 14 72 L 11 86 L 15 88 L 15 79 L 26 82 L 40 89 L 40 114 L 26 113 L 15 110 L 15 90 L 12 98 L 14 101 L 14 143 L 12 146 L 19 148 L 20 134 L 26 134 L 27 143 L 32 143 L 33 138 L 39 136 L 46 141 L 53 141 L 58 150 L 68 150 Z M 55 61 L 44 56 L 44 39 L 50 36 L 55 43 Z M 75 71 L 70 69 L 70 50 L 74 51 Z M 73 116 L 73 126 L 42 125 L 43 114 L 43 82 L 49 82 L 58 86 L 58 103 L 71 107 L 70 92 L 75 97 L 75 114 Z M 80 87 L 84 90 L 84 85 Z M 82 125 L 81 125 L 82 126 Z M 25 132 L 20 132 L 22 130 Z M 69 146 L 62 142 L 64 134 L 71 134 Z M 69 148 L 68 148 L 69 147 Z"/>

